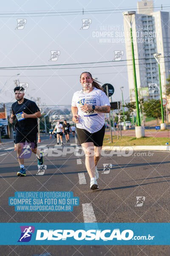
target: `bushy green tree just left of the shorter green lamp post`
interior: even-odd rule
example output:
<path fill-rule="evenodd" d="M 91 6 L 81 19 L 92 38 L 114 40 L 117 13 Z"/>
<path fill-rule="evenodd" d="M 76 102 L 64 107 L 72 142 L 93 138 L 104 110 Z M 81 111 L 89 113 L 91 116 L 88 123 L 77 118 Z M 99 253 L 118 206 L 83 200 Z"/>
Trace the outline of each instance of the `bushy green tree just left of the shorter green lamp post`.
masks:
<path fill-rule="evenodd" d="M 158 119 L 161 118 L 161 104 L 159 99 L 148 99 L 144 102 L 144 113 L 147 117 L 156 118 L 158 124 Z"/>

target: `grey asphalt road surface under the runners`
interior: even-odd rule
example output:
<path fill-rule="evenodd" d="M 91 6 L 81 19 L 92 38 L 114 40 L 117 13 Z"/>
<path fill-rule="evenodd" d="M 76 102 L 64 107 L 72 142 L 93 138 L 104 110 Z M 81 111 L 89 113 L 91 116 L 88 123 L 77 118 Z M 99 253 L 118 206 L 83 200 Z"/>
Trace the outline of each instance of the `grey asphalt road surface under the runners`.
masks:
<path fill-rule="evenodd" d="M 133 152 L 129 157 L 103 156 L 98 164 L 99 189 L 91 191 L 85 157 L 75 153 L 56 157 L 53 155 L 53 150 L 58 147 L 56 140 L 45 135 L 41 140 L 39 148 L 46 148 L 44 175 L 36 175 L 37 159 L 32 154 L 25 160 L 27 176 L 17 177 L 19 166 L 14 143 L 0 145 L 1 222 L 86 222 L 89 216 L 83 211 L 85 205 L 92 207 L 91 218 L 96 222 L 169 222 L 169 153 L 154 151 L 152 154 L 138 152 L 138 155 Z M 75 138 L 71 137 L 64 147 L 75 148 L 76 144 Z M 104 170 L 104 164 L 112 164 L 112 167 Z M 14 196 L 16 191 L 72 191 L 79 197 L 79 206 L 74 206 L 73 212 L 15 212 L 14 207 L 8 205 L 8 197 Z M 145 197 L 142 207 L 135 207 L 137 196 Z M 6 256 L 167 256 L 170 246 L 1 245 L 0 252 Z"/>

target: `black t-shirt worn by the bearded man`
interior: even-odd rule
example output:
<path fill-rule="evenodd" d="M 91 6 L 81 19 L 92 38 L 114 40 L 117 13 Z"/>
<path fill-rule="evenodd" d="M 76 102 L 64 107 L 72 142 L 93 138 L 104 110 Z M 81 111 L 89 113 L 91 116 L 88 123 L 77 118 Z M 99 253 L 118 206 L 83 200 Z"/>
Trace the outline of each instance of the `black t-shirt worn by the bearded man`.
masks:
<path fill-rule="evenodd" d="M 22 134 L 37 133 L 38 123 L 37 118 L 22 118 L 21 114 L 24 112 L 26 114 L 34 114 L 40 109 L 37 104 L 29 99 L 24 99 L 23 103 L 18 104 L 14 102 L 11 106 L 12 114 L 17 117 L 17 122 L 15 124 L 15 129 L 20 131 Z"/>

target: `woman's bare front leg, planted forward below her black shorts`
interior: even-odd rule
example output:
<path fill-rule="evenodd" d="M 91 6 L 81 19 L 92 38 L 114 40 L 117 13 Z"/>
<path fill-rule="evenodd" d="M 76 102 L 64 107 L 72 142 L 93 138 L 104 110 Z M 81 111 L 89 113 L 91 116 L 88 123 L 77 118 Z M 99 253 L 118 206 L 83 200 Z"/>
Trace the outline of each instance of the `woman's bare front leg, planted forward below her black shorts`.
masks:
<path fill-rule="evenodd" d="M 94 177 L 94 143 L 86 142 L 82 143 L 82 149 L 85 152 L 85 167 L 88 171 L 90 178 Z"/>

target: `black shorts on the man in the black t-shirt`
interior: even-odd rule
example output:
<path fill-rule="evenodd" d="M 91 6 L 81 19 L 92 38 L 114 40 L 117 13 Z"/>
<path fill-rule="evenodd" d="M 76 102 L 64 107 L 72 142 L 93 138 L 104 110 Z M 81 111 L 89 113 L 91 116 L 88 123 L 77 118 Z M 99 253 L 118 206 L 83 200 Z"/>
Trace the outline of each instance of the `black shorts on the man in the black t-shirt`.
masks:
<path fill-rule="evenodd" d="M 19 131 L 16 131 L 15 134 L 15 144 L 25 143 L 26 141 L 31 144 L 31 148 L 37 148 L 37 133 L 22 134 Z"/>

